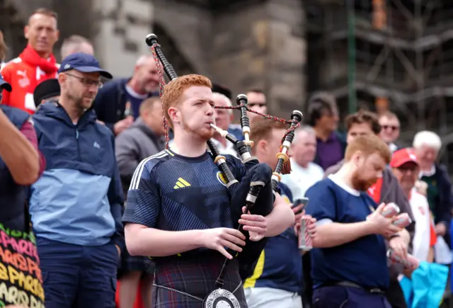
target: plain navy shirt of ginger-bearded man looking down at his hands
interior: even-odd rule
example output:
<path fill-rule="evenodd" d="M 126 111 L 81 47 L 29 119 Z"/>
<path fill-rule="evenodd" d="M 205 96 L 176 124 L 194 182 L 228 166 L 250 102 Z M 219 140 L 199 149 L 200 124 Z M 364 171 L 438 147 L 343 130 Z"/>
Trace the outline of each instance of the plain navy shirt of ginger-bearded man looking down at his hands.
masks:
<path fill-rule="evenodd" d="M 346 186 L 335 175 L 311 186 L 305 196 L 310 200 L 306 213 L 318 221 L 363 222 L 377 207 L 367 193 Z M 385 289 L 389 285 L 389 271 L 384 237 L 371 234 L 340 246 L 312 249 L 311 276 L 315 289 L 340 281 Z"/>

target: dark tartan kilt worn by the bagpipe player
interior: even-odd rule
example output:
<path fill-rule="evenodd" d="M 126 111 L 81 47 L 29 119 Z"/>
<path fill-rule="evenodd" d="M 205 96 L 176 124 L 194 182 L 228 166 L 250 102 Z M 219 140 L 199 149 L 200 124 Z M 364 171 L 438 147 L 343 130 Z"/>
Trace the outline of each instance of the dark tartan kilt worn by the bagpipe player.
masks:
<path fill-rule="evenodd" d="M 179 292 L 167 290 L 169 287 L 180 292 L 185 292 L 204 300 L 215 287 L 224 256 L 215 253 L 202 254 L 197 257 L 172 257 L 169 259 L 156 259 L 156 271 L 154 273 L 154 284 L 152 290 L 154 308 L 202 308 L 203 302 Z M 239 276 L 238 261 L 229 261 L 224 277 L 225 290 L 233 292 L 239 300 L 241 308 L 247 308 L 246 297 Z"/>

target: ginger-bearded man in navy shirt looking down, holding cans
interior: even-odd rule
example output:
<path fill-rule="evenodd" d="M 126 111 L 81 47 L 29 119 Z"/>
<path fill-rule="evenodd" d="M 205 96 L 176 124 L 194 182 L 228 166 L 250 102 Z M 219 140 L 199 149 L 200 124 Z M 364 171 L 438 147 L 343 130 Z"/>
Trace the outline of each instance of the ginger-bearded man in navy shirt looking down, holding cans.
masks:
<path fill-rule="evenodd" d="M 311 251 L 313 307 L 391 307 L 385 297 L 389 271 L 384 239 L 405 258 L 409 236 L 392 224 L 395 217 L 382 215 L 385 204 L 377 206 L 366 193 L 390 160 L 382 139 L 356 137 L 341 169 L 307 190 L 306 212 L 318 221 Z"/>

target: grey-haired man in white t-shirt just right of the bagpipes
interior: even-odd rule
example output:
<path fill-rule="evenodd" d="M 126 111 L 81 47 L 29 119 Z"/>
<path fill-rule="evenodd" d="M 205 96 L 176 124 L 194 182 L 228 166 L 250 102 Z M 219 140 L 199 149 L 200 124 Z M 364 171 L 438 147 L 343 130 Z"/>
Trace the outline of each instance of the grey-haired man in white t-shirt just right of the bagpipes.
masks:
<path fill-rule="evenodd" d="M 289 187 L 294 200 L 304 197 L 306 190 L 323 179 L 323 169 L 313 162 L 315 156 L 316 134 L 313 128 L 297 128 L 289 159 L 291 173 L 282 176 L 282 183 Z"/>

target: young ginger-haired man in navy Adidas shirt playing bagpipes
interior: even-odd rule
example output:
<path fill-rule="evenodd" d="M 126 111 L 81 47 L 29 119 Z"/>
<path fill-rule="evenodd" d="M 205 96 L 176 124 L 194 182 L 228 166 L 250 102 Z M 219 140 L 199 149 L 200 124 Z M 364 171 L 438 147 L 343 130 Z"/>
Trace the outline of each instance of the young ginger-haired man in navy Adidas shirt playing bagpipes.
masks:
<path fill-rule="evenodd" d="M 127 195 L 126 245 L 132 256 L 151 256 L 156 262 L 154 307 L 202 307 L 225 257 L 229 264 L 224 289 L 233 293 L 240 307 L 247 307 L 234 258 L 243 250 L 246 236 L 233 229 L 238 221 L 231 216 L 226 181 L 206 149 L 214 133 L 211 88 L 209 79 L 195 74 L 165 86 L 162 103 L 174 131 L 173 147 L 139 164 Z M 224 157 L 234 178 L 239 182 L 246 178 L 239 159 Z M 294 214 L 275 193 L 269 215 L 243 214 L 239 224 L 251 241 L 259 241 L 292 226 Z"/>

